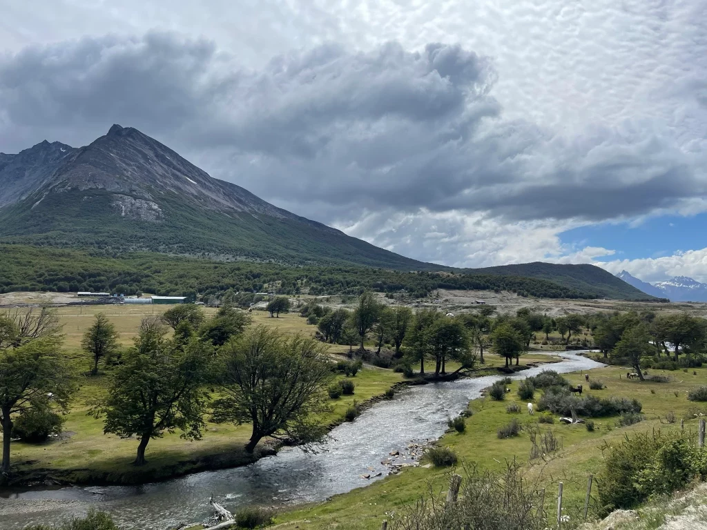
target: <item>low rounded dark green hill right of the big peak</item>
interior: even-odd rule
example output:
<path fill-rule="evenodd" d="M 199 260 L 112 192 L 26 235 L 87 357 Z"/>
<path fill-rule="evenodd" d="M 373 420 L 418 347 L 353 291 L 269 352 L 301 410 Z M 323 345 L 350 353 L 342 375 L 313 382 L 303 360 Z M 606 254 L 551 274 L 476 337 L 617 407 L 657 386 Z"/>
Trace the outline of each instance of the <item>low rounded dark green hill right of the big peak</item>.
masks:
<path fill-rule="evenodd" d="M 653 296 L 621 281 L 612 273 L 589 264 L 566 265 L 534 261 L 518 265 L 485 267 L 484 269 L 474 269 L 474 271 L 480 274 L 504 274 L 551 280 L 563 285 L 563 287 L 580 290 L 584 293 L 593 293 L 595 298 L 654 300 Z"/>

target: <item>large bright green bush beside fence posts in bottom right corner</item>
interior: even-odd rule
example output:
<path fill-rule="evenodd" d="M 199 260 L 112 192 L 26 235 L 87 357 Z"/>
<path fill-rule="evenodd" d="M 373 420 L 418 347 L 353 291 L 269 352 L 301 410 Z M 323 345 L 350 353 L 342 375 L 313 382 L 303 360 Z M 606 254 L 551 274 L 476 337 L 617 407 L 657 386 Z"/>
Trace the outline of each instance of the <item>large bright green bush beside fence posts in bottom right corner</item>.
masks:
<path fill-rule="evenodd" d="M 670 494 L 707 473 L 707 452 L 681 432 L 637 433 L 607 449 L 599 489 L 605 512 Z"/>

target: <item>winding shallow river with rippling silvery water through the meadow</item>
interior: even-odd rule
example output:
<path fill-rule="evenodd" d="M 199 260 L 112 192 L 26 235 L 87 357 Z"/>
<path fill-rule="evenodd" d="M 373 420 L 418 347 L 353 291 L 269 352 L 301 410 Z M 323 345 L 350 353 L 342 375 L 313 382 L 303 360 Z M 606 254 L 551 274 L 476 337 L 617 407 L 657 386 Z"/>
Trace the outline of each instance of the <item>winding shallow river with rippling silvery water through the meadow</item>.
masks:
<path fill-rule="evenodd" d="M 551 367 L 524 370 L 513 378 L 557 372 L 590 370 L 602 366 L 580 352 L 558 353 L 563 360 Z M 500 376 L 460 379 L 455 382 L 409 387 L 390 401 L 382 401 L 331 432 L 317 454 L 297 447 L 281 450 L 250 466 L 206 471 L 170 481 L 139 486 L 71 487 L 13 490 L 5 499 L 37 500 L 37 512 L 0 517 L 0 529 L 21 529 L 28 524 L 53 523 L 81 515 L 88 505 L 109 512 L 122 529 L 152 530 L 199 522 L 211 515 L 211 494 L 231 510 L 250 504 L 295 505 L 320 501 L 386 476 L 381 464 L 392 451 L 404 459 L 411 442 L 424 443 L 443 435 L 447 420 L 463 411 Z M 370 473 L 370 481 L 362 478 Z M 376 477 L 382 473 L 380 477 Z M 0 496 L 0 505 L 6 502 Z"/>

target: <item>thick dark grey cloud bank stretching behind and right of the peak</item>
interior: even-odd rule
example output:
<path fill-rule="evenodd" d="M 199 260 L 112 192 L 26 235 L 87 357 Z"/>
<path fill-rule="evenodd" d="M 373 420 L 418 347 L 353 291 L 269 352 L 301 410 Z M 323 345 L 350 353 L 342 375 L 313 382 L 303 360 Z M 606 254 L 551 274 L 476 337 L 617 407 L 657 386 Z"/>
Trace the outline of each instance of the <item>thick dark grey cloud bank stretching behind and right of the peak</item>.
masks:
<path fill-rule="evenodd" d="M 328 204 L 605 220 L 706 194 L 703 153 L 650 127 L 568 138 L 504 120 L 495 82 L 491 59 L 460 45 L 321 45 L 246 70 L 213 42 L 148 33 L 8 56 L 0 105 L 15 148 L 37 131 L 71 143 L 119 122 L 298 213 Z"/>

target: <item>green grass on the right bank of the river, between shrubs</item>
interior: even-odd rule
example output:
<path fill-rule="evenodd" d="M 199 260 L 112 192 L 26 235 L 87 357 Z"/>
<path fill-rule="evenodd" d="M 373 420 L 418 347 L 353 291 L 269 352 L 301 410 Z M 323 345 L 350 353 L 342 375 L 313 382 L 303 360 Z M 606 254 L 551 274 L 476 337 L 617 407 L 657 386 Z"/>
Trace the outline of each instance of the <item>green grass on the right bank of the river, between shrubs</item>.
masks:
<path fill-rule="evenodd" d="M 491 358 L 491 355 L 489 355 Z M 629 428 L 615 428 L 617 418 L 595 419 L 595 431 L 588 432 L 584 425 L 540 425 L 542 430 L 551 428 L 563 442 L 561 449 L 554 457 L 547 461 L 528 461 L 530 454 L 530 440 L 525 433 L 519 437 L 508 440 L 498 440 L 496 431 L 506 425 L 513 417 L 522 421 L 530 421 L 530 416 L 525 412 L 525 404 L 520 403 L 515 394 L 518 382 L 511 384 L 511 392 L 506 400 L 495 402 L 491 399 L 477 399 L 472 401 L 470 408 L 474 415 L 466 419 L 466 432 L 460 434 L 451 432 L 443 437 L 440 444 L 451 447 L 460 457 L 467 462 L 476 462 L 479 466 L 488 469 L 502 469 L 507 461 L 517 459 L 525 464 L 525 468 L 532 477 L 542 481 L 548 488 L 548 508 L 551 509 L 551 499 L 556 495 L 557 483 L 563 481 L 565 505 L 580 505 L 586 493 L 586 481 L 589 473 L 598 473 L 602 469 L 602 451 L 604 444 L 620 442 L 625 435 L 631 432 L 641 432 L 653 428 L 675 429 L 677 424 L 665 425 L 659 418 L 664 418 L 668 411 L 675 411 L 678 418 L 687 415 L 691 404 L 686 399 L 689 389 L 707 382 L 707 368 L 697 368 L 697 375 L 684 372 L 666 372 L 676 380 L 667 383 L 640 382 L 638 380 L 619 379 L 620 374 L 625 375 L 626 370 L 621 367 L 607 367 L 592 370 L 590 377 L 603 379 L 607 389 L 585 391 L 586 394 L 600 396 L 626 396 L 635 397 L 643 404 L 643 413 L 646 420 L 632 425 Z M 566 375 L 573 384 L 585 383 L 584 376 L 578 373 Z M 655 394 L 651 393 L 651 389 Z M 677 391 L 678 396 L 673 392 Z M 537 393 L 536 399 L 540 396 Z M 506 413 L 506 406 L 517 401 L 521 406 L 520 414 Z M 532 420 L 537 420 L 536 412 Z M 685 422 L 686 430 L 695 433 L 697 419 L 688 419 Z M 295 510 L 279 514 L 277 522 L 279 529 L 300 528 L 306 520 L 308 529 L 380 529 L 382 520 L 389 517 L 387 513 L 398 512 L 405 506 L 411 505 L 419 497 L 428 492 L 430 485 L 433 490 L 440 491 L 446 484 L 445 471 L 428 469 L 422 466 L 405 469 L 396 476 L 389 476 L 382 481 L 373 483 L 367 488 L 353 490 L 344 495 L 337 495 L 329 502 L 300 507 Z M 592 507 L 594 504 L 592 502 Z"/>

